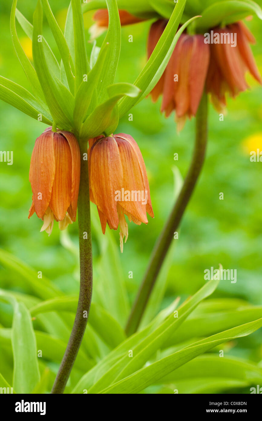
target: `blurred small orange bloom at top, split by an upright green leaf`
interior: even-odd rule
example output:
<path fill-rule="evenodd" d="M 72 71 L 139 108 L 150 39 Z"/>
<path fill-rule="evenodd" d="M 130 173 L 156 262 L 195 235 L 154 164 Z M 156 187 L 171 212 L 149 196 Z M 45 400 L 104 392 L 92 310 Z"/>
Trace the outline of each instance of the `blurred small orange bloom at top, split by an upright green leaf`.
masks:
<path fill-rule="evenodd" d="M 119 10 L 119 18 L 122 26 L 136 24 L 142 22 L 144 19 L 138 18 L 137 16 L 132 15 L 126 10 Z M 101 35 L 109 25 L 109 13 L 107 9 L 99 9 L 95 12 L 93 16 L 95 24 L 90 28 L 92 38 L 98 37 Z"/>

